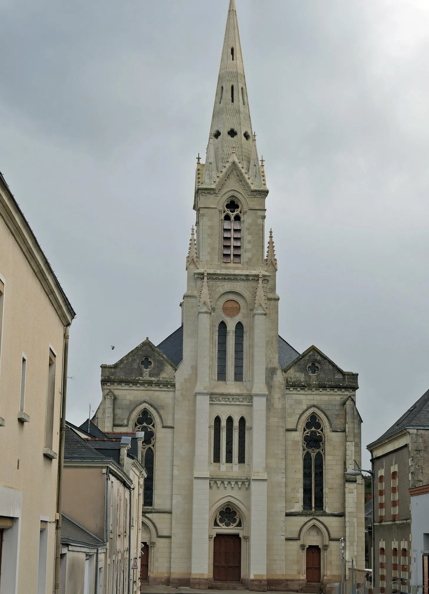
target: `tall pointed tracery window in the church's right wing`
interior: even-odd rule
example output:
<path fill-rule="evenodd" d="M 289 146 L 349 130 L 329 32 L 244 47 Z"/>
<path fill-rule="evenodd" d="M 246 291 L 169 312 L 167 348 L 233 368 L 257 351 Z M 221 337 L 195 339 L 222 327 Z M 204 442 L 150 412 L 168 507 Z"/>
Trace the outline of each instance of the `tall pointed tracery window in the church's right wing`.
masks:
<path fill-rule="evenodd" d="M 324 434 L 323 426 L 314 413 L 305 422 L 302 448 L 302 508 L 323 511 Z"/>

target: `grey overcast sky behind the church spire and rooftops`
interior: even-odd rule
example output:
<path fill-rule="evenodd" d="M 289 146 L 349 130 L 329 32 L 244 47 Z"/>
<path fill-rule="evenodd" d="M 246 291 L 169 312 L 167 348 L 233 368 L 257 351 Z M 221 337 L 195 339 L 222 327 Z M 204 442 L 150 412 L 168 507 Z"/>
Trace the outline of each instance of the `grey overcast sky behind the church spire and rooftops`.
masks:
<path fill-rule="evenodd" d="M 429 388 L 429 2 L 236 5 L 279 332 L 359 373 L 365 446 Z M 180 325 L 227 10 L 0 0 L 0 170 L 77 312 L 74 423 Z"/>

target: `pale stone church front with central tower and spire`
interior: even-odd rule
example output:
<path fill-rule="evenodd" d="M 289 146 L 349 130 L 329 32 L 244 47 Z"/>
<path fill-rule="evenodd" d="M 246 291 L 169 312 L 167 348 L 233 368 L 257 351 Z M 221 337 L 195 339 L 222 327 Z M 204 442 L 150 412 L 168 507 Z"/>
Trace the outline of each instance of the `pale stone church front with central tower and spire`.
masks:
<path fill-rule="evenodd" d="M 364 567 L 357 374 L 278 332 L 268 189 L 228 10 L 206 163 L 197 160 L 182 324 L 102 365 L 100 429 L 144 431 L 151 584 L 299 589 Z"/>

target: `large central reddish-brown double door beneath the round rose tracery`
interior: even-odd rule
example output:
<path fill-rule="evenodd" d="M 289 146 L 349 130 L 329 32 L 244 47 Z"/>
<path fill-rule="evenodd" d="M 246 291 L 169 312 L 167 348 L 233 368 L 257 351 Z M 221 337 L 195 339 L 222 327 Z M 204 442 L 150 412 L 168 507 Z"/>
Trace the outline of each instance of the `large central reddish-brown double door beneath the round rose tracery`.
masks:
<path fill-rule="evenodd" d="M 213 539 L 213 580 L 239 582 L 241 579 L 241 538 L 238 534 L 218 534 Z"/>

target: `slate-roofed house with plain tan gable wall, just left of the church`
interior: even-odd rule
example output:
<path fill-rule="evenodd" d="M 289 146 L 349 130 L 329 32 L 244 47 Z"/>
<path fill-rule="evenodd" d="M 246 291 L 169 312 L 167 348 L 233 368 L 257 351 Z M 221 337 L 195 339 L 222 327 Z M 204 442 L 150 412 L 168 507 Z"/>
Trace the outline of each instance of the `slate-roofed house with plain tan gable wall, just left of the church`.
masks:
<path fill-rule="evenodd" d="M 142 439 L 138 433 L 111 439 L 92 423 L 90 432 L 66 427 L 62 509 L 107 546 L 105 557 L 92 560 L 92 592 L 128 592 L 128 579 L 129 592 L 140 592 Z"/>

